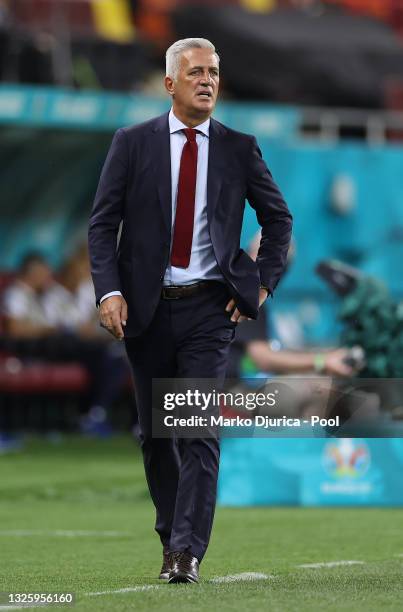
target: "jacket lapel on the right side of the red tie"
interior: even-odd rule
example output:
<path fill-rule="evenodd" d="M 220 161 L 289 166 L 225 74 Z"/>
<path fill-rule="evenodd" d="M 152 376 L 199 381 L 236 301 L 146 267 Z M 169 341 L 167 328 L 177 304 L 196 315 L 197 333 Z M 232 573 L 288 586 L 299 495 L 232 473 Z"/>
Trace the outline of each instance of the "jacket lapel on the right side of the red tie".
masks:
<path fill-rule="evenodd" d="M 211 226 L 214 217 L 218 196 L 221 191 L 222 177 L 225 172 L 225 166 L 223 164 L 223 160 L 226 158 L 223 139 L 225 132 L 226 129 L 223 125 L 211 119 L 207 172 L 207 218 L 209 226 Z"/>

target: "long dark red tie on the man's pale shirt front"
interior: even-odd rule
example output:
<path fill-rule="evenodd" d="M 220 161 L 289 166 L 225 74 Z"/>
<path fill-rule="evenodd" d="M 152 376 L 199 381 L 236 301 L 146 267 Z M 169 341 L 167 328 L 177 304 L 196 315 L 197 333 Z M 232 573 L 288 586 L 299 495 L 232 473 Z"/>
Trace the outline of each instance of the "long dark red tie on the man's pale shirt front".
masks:
<path fill-rule="evenodd" d="M 190 262 L 197 175 L 196 130 L 186 128 L 183 132 L 187 141 L 182 150 L 179 170 L 174 238 L 171 252 L 171 264 L 178 268 L 187 268 Z"/>

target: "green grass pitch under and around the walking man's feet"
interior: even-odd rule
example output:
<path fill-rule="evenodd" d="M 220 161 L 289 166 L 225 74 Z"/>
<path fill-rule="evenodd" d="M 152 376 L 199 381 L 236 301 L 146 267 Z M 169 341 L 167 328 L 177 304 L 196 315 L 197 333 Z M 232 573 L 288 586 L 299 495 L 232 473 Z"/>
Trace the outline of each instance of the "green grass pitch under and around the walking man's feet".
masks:
<path fill-rule="evenodd" d="M 0 591 L 75 592 L 65 610 L 97 612 L 401 612 L 402 516 L 400 509 L 217 508 L 201 583 L 161 584 L 135 443 L 31 439 L 20 453 L 0 456 Z M 299 567 L 340 560 L 362 563 Z M 215 581 L 251 572 L 266 577 Z M 105 593 L 119 589 L 132 590 Z"/>

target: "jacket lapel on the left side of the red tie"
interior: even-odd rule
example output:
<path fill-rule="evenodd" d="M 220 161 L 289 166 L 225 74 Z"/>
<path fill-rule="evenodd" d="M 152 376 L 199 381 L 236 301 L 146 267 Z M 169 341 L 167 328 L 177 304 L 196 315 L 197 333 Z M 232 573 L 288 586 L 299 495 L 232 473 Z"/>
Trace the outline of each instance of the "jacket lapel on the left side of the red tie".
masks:
<path fill-rule="evenodd" d="M 171 187 L 171 146 L 169 139 L 168 113 L 153 122 L 151 157 L 155 182 L 162 208 L 162 214 L 169 232 L 172 223 L 172 187 Z"/>

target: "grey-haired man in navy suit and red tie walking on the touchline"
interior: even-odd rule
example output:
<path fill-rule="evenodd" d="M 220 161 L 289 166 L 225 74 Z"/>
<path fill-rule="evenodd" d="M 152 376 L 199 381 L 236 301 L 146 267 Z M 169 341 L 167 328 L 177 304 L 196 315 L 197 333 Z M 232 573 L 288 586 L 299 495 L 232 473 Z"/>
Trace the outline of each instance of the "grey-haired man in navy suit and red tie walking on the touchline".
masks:
<path fill-rule="evenodd" d="M 89 247 L 101 325 L 124 339 L 133 371 L 160 578 L 176 583 L 198 581 L 219 443 L 153 438 L 151 382 L 224 379 L 236 325 L 257 317 L 284 270 L 292 218 L 256 139 L 210 118 L 219 87 L 212 43 L 180 40 L 166 58 L 172 108 L 115 133 Z M 256 262 L 239 246 L 245 199 L 262 227 Z"/>

